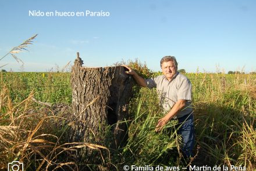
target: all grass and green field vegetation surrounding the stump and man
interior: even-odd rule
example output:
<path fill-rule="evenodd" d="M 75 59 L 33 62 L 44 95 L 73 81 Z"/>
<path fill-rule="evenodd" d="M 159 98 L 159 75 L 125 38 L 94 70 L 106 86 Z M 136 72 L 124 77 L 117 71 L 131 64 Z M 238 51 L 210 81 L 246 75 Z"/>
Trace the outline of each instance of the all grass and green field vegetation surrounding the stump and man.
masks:
<path fill-rule="evenodd" d="M 159 73 L 134 66 L 151 77 Z M 179 152 L 180 137 L 169 122 L 161 133 L 154 131 L 161 114 L 155 90 L 134 88 L 127 121 L 125 147 L 87 145 L 109 152 L 88 170 L 123 170 L 136 166 L 233 166 L 256 169 L 256 75 L 185 74 L 193 85 L 196 144 L 194 158 L 186 161 Z M 1 72 L 0 74 L 0 169 L 20 161 L 26 170 L 77 170 L 81 163 L 73 150 L 84 148 L 69 142 L 72 121 L 57 105 L 72 103 L 69 72 Z M 35 101 L 37 100 L 37 101 Z M 45 104 L 38 101 L 45 102 Z M 47 105 L 46 105 L 47 104 Z M 48 106 L 48 107 L 47 107 Z M 73 143 L 73 144 L 72 144 Z M 80 168 L 81 169 L 81 168 Z M 181 169 L 182 170 L 182 169 Z"/>

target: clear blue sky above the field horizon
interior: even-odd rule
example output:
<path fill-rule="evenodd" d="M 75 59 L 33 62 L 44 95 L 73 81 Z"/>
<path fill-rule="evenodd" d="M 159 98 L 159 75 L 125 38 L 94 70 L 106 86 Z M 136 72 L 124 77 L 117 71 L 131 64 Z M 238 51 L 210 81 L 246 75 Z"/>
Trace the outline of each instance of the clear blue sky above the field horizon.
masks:
<path fill-rule="evenodd" d="M 108 17 L 33 17 L 40 12 L 109 12 Z M 256 1 L 35 1 L 0 2 L 0 57 L 38 34 L 29 52 L 17 56 L 24 71 L 48 71 L 76 52 L 87 67 L 139 59 L 159 71 L 163 56 L 195 72 L 256 71 Z M 20 71 L 12 56 L 1 69 Z"/>

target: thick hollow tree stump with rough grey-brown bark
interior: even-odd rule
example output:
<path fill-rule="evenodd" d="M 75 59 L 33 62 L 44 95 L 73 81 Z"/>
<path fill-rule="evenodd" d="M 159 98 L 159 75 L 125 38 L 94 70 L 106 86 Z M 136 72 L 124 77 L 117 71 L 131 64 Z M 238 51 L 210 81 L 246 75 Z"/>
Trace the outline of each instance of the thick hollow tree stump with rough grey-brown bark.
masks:
<path fill-rule="evenodd" d="M 82 64 L 77 53 L 71 78 L 72 141 L 105 146 L 112 137 L 110 148 L 118 148 L 127 131 L 124 121 L 128 117 L 133 79 L 122 66 L 87 68 Z M 106 134 L 110 127 L 111 135 Z"/>

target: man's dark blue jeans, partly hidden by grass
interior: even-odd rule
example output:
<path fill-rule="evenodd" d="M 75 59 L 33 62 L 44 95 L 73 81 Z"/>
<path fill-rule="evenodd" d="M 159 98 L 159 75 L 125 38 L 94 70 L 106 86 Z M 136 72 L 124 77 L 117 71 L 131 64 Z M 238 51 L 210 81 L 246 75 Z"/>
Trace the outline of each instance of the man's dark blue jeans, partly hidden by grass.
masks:
<path fill-rule="evenodd" d="M 177 133 L 182 136 L 182 152 L 189 158 L 193 157 L 193 147 L 195 143 L 194 116 L 193 112 L 184 117 L 178 118 L 179 124 Z"/>

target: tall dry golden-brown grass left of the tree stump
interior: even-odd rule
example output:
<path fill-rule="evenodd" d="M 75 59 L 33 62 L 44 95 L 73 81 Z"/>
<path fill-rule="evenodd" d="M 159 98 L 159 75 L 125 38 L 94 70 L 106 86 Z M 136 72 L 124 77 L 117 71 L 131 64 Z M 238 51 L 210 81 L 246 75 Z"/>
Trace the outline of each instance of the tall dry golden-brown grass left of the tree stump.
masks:
<path fill-rule="evenodd" d="M 105 161 L 102 150 L 108 152 L 110 158 L 108 148 L 101 145 L 68 143 L 64 136 L 68 133 L 67 125 L 72 124 L 72 121 L 59 117 L 50 108 L 35 105 L 32 99 L 33 92 L 20 103 L 13 103 L 8 88 L 3 85 L 1 89 L 0 169 L 7 169 L 8 162 L 19 161 L 24 163 L 25 169 L 78 170 L 74 151 L 86 147 L 99 151 L 102 161 Z M 63 119 L 67 120 L 67 125 L 60 128 Z M 56 134 L 59 129 L 62 129 L 61 132 Z"/>

